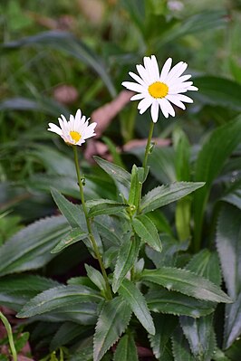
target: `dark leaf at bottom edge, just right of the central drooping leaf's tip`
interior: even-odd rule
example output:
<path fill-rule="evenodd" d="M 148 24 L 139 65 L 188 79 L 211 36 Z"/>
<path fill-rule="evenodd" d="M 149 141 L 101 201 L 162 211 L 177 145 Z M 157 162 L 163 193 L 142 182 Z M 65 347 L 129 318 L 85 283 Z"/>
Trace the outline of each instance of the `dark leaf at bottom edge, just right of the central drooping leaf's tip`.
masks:
<path fill-rule="evenodd" d="M 165 360 L 169 337 L 177 327 L 178 318 L 167 315 L 154 315 L 156 335 L 148 335 L 153 354 L 160 360 Z"/>

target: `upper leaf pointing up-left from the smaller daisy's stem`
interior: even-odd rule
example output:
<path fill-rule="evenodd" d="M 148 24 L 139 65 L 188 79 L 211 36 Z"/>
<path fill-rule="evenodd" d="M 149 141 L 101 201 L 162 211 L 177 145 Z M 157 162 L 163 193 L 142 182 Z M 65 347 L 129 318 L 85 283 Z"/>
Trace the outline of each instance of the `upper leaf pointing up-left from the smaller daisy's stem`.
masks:
<path fill-rule="evenodd" d="M 79 205 L 72 204 L 57 189 L 51 190 L 53 200 L 57 204 L 59 210 L 70 223 L 72 228 L 79 227 L 86 230 L 86 223 L 82 208 Z M 82 231 L 83 232 L 83 231 Z"/>

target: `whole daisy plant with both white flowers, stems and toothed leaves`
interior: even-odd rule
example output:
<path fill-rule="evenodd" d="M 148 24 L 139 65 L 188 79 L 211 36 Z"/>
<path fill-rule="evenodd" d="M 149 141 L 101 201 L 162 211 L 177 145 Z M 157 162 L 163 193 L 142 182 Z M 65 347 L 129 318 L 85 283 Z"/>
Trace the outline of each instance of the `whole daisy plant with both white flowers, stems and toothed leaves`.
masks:
<path fill-rule="evenodd" d="M 62 137 L 73 149 L 76 183 L 80 188 L 81 198 L 81 204 L 76 206 L 57 189 L 52 189 L 53 199 L 70 225 L 67 233 L 65 228 L 64 235 L 60 239 L 54 239 L 52 253 L 63 252 L 73 243 L 81 242 L 80 246 L 84 243 L 92 257 L 99 262 L 99 266 L 94 268 L 86 264 L 86 276 L 72 278 L 70 282 L 67 281 L 67 285 L 43 290 L 25 303 L 18 317 L 38 315 L 40 320 L 42 315 L 44 317 L 44 314 L 49 314 L 51 310 L 55 312 L 55 309 L 58 309 L 60 315 L 62 309 L 66 310 L 63 320 L 71 321 L 69 323 L 76 321 L 80 335 L 88 335 L 82 343 L 78 342 L 77 347 L 72 347 L 78 349 L 72 359 L 82 359 L 84 356 L 84 359 L 93 361 L 101 361 L 103 357 L 106 360 L 128 361 L 126 355 L 131 355 L 131 360 L 137 361 L 140 359 L 140 348 L 142 356 L 143 349 L 148 351 L 149 360 L 160 359 L 160 352 L 169 347 L 169 337 L 176 337 L 173 338 L 173 343 L 180 339 L 179 333 L 175 333 L 178 316 L 188 316 L 185 318 L 188 329 L 188 326 L 192 326 L 194 318 L 198 323 L 197 318 L 209 316 L 218 302 L 231 302 L 227 294 L 210 280 L 192 269 L 176 267 L 176 254 L 183 248 L 178 241 L 170 237 L 172 250 L 176 250 L 173 260 L 170 260 L 169 242 L 162 242 L 162 235 L 152 222 L 153 212 L 163 205 L 191 194 L 204 183 L 175 182 L 159 185 L 148 194 L 142 195 L 142 185 L 149 174 L 150 142 L 159 107 L 166 117 L 169 114 L 174 116 L 170 102 L 184 109 L 183 102 L 192 100 L 183 93 L 197 90 L 192 82 L 188 81 L 189 75 L 180 76 L 187 68 L 184 62 L 179 62 L 170 70 L 169 59 L 160 74 L 154 56 L 144 58 L 144 64 L 145 67 L 137 67 L 140 77 L 130 73 L 139 84 L 123 83 L 128 89 L 140 92 L 132 100 L 141 100 L 141 113 L 151 106 L 153 121 L 149 126 L 149 138 L 142 166 L 133 165 L 129 173 L 101 157 L 94 157 L 96 163 L 115 183 L 118 191 L 116 199 L 113 196 L 112 199 L 98 198 L 85 201 L 84 198 L 85 182 L 78 160 L 78 150 L 82 150 L 82 147 L 78 146 L 82 146 L 86 139 L 95 135 L 96 123 L 89 124 L 89 119 L 82 116 L 80 109 L 75 117 L 70 116 L 69 121 L 61 116 L 60 127 L 49 123 L 48 130 Z M 153 263 L 150 260 L 153 260 Z M 162 325 L 169 323 L 166 314 L 175 316 L 170 318 L 170 334 L 164 339 Z M 60 322 L 62 318 L 56 319 Z M 208 318 L 208 322 L 211 322 L 210 319 Z M 203 329 L 205 325 L 201 324 L 200 328 Z M 195 327 L 197 331 L 198 326 Z M 93 337 L 89 337 L 91 328 Z M 66 329 L 66 322 L 63 329 Z M 148 335 L 144 337 L 145 348 L 141 344 L 143 329 Z M 207 335 L 209 337 L 209 333 Z M 199 334 L 195 337 L 199 337 Z M 57 342 L 58 347 L 65 345 L 64 337 L 60 336 L 59 339 L 58 333 L 54 336 L 54 342 Z M 56 344 L 54 342 L 52 347 Z M 82 350 L 80 345 L 84 345 Z M 112 347 L 113 345 L 115 346 Z M 86 356 L 88 352 L 90 355 Z M 170 349 L 169 353 L 171 352 Z"/>

